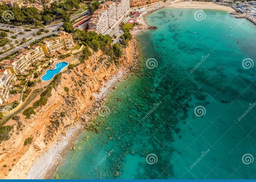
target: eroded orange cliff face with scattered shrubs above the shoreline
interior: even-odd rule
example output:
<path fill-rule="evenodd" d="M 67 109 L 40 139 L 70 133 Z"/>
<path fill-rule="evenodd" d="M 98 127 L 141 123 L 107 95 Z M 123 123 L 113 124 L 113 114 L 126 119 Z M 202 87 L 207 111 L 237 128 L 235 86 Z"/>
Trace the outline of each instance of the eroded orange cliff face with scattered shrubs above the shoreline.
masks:
<path fill-rule="evenodd" d="M 92 112 L 97 114 L 95 103 L 99 104 L 93 93 L 101 91 L 102 85 L 119 71 L 134 67 L 138 57 L 135 48 L 133 39 L 123 50 L 118 67 L 101 51 L 94 53 L 85 63 L 63 72 L 46 105 L 34 109 L 36 114 L 30 119 L 22 115 L 24 108 L 17 114 L 19 121 L 9 120 L 8 123 L 12 123 L 10 139 L 0 143 L 0 179 L 25 179 L 38 156 L 47 151 L 58 136 L 65 135 L 77 124 L 89 124 L 88 120 L 94 116 Z M 64 87 L 69 88 L 69 94 Z M 38 99 L 39 95 L 26 108 Z M 65 116 L 61 116 L 61 112 Z M 24 146 L 27 138 L 33 138 L 32 143 Z"/>

